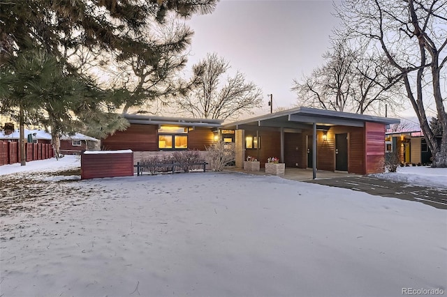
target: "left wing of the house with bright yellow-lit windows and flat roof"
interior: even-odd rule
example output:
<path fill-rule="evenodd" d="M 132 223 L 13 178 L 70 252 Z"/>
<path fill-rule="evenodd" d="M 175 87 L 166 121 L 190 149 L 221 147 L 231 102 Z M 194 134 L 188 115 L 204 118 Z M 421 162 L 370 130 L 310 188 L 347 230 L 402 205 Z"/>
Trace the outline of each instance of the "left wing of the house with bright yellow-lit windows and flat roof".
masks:
<path fill-rule="evenodd" d="M 130 125 L 101 140 L 105 150 L 133 151 L 138 162 L 172 151 L 206 151 L 217 140 L 223 120 L 123 114 Z"/>

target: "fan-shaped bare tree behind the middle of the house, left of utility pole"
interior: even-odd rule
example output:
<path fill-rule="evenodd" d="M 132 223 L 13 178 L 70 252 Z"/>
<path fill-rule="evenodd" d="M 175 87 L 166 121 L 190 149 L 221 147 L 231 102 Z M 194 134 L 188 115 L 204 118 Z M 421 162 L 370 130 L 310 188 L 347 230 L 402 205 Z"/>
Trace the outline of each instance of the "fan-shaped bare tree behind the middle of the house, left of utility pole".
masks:
<path fill-rule="evenodd" d="M 228 61 L 217 54 L 193 66 L 193 86 L 185 96 L 178 96 L 176 105 L 195 118 L 235 119 L 243 112 L 262 106 L 262 91 L 253 82 L 246 82 L 237 71 L 233 77 L 221 78 L 230 69 Z"/>

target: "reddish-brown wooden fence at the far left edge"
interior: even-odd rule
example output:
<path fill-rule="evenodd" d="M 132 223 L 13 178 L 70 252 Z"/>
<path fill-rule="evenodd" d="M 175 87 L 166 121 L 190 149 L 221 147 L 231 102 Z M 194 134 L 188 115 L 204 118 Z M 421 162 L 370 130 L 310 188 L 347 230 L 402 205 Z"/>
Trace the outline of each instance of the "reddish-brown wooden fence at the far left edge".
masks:
<path fill-rule="evenodd" d="M 51 144 L 25 144 L 27 162 L 45 160 L 54 157 Z M 0 140 L 0 166 L 20 162 L 19 142 Z"/>

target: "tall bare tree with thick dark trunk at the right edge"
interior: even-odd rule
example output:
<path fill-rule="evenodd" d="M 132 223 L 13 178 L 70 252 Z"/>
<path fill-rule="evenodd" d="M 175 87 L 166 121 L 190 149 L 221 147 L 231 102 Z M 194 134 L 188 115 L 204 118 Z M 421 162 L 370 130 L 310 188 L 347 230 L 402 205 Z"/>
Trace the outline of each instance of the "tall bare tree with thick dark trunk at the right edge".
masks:
<path fill-rule="evenodd" d="M 447 2 L 351 0 L 343 1 L 337 12 L 345 35 L 379 48 L 398 71 L 434 155 L 433 166 L 447 167 L 447 116 L 441 91 L 446 84 Z M 427 121 L 427 98 L 434 100 L 443 127 L 440 145 Z"/>

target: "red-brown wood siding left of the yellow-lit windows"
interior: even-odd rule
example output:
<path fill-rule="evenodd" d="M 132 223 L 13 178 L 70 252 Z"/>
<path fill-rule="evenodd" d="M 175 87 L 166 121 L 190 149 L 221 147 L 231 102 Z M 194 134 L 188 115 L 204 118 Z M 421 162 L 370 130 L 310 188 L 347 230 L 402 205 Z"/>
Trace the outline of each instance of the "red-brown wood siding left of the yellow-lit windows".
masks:
<path fill-rule="evenodd" d="M 158 125 L 131 124 L 127 130 L 103 139 L 101 146 L 105 150 L 158 151 L 158 128 Z"/>

